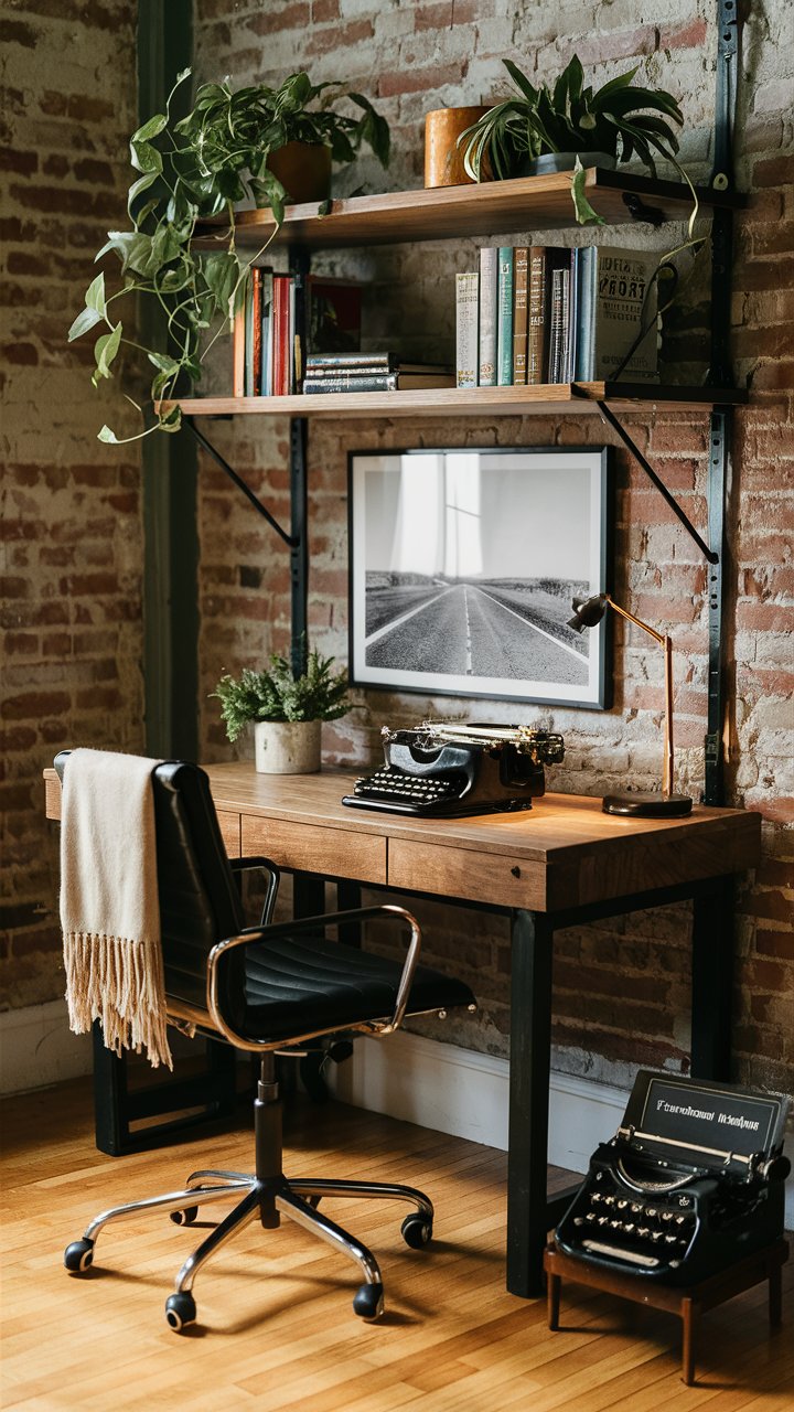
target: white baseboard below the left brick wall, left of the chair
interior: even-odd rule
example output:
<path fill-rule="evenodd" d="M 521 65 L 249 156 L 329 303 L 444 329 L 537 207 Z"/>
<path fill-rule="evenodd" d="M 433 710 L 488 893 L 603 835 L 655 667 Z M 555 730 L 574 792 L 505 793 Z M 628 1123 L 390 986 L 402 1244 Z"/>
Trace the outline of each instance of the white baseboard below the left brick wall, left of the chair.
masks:
<path fill-rule="evenodd" d="M 0 1012 L 0 1093 L 45 1089 L 90 1069 L 90 1035 L 72 1034 L 65 1000 Z"/>

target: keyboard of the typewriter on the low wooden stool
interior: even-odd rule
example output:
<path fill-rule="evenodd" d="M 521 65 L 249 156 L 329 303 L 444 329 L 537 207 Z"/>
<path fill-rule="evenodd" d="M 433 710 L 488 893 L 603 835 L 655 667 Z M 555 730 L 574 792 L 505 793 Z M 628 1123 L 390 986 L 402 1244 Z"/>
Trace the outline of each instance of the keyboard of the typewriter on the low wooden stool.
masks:
<path fill-rule="evenodd" d="M 589 1200 L 574 1217 L 574 1238 L 593 1255 L 609 1255 L 646 1269 L 684 1258 L 697 1226 L 695 1206 L 685 1192 L 663 1202 L 653 1195 L 627 1195 L 606 1172 L 595 1173 Z"/>

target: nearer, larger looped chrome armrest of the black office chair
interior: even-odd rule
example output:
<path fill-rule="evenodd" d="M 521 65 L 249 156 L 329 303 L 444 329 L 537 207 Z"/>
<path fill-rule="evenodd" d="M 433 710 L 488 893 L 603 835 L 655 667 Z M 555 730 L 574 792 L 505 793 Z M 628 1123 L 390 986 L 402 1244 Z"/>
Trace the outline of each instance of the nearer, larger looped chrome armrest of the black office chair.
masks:
<path fill-rule="evenodd" d="M 422 935 L 415 916 L 413 916 L 413 914 L 404 907 L 396 907 L 391 902 L 384 902 L 380 907 L 357 907 L 346 912 L 326 912 L 322 916 L 301 916 L 298 921 L 278 922 L 275 926 L 247 926 L 239 936 L 227 936 L 222 942 L 218 942 L 212 947 L 206 963 L 206 1008 L 212 1017 L 212 1022 L 218 1025 L 220 1034 L 225 1035 L 230 1043 L 237 1045 L 242 1049 L 260 1052 L 263 1049 L 283 1048 L 283 1039 L 273 1043 L 268 1043 L 267 1041 L 257 1042 L 246 1039 L 229 1025 L 220 1007 L 220 969 L 225 959 L 239 946 L 267 945 L 267 942 L 275 936 L 297 936 L 301 932 L 318 932 L 324 931 L 326 926 L 342 925 L 345 922 L 366 922 L 373 918 L 400 921 L 405 923 L 411 932 L 408 952 L 403 963 L 403 974 L 400 976 L 400 983 L 397 986 L 394 1014 L 384 1024 L 377 1025 L 379 1035 L 393 1034 L 394 1029 L 400 1028 L 405 1015 L 411 983 L 420 959 Z M 335 1028 L 336 1027 L 332 1027 L 331 1029 L 314 1029 L 304 1035 L 295 1035 L 292 1042 L 300 1043 L 304 1039 L 312 1039 L 315 1035 L 332 1034 Z M 376 1028 L 374 1022 L 373 1028 Z"/>

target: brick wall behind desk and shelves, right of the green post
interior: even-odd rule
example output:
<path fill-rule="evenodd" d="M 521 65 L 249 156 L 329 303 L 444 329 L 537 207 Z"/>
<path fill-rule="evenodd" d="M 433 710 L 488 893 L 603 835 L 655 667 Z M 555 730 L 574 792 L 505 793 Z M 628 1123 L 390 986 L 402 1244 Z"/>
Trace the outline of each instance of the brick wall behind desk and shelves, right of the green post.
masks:
<path fill-rule="evenodd" d="M 730 702 L 728 794 L 764 816 L 764 863 L 739 890 L 736 1032 L 737 1076 L 794 1090 L 794 935 L 791 931 L 791 658 L 786 613 L 794 593 L 784 514 L 791 490 L 791 343 L 787 321 L 793 244 L 786 215 L 790 181 L 790 47 L 777 38 L 787 7 L 774 0 L 766 20 L 746 30 L 739 100 L 737 178 L 753 191 L 739 219 L 733 297 L 736 371 L 752 378 L 753 407 L 737 417 L 733 446 L 728 641 L 735 662 Z M 769 21 L 769 23 L 767 23 Z M 394 158 L 387 174 L 369 158 L 340 175 L 338 192 L 421 186 L 424 113 L 455 103 L 487 102 L 504 92 L 502 55 L 530 78 L 554 73 L 576 51 L 595 82 L 641 62 L 643 78 L 680 96 L 685 113 L 682 157 L 694 176 L 711 161 L 715 16 L 711 0 L 665 6 L 657 23 L 629 0 L 588 7 L 526 7 L 506 0 L 372 4 L 196 3 L 196 68 L 201 79 L 233 75 L 237 83 L 278 82 L 305 66 L 315 82 L 345 79 L 389 117 Z M 788 96 L 787 96 L 788 95 Z M 791 212 L 788 210 L 788 217 Z M 681 232 L 682 233 L 682 232 Z M 496 234 L 496 232 L 494 232 Z M 670 234 L 674 243 L 677 232 Z M 545 240 L 569 239 L 564 233 Z M 589 239 L 589 236 L 575 237 Z M 640 243 L 632 232 L 609 232 L 612 243 Z M 517 243 L 519 236 L 514 236 Z M 367 346 L 394 342 L 414 357 L 449 352 L 452 275 L 472 268 L 472 241 L 390 247 L 366 257 L 338 253 L 322 264 L 372 281 L 365 311 Z M 708 263 L 689 280 L 687 306 L 708 292 Z M 678 376 L 702 373 L 702 315 L 684 312 L 667 353 Z M 405 332 L 410 330 L 410 332 Z M 692 352 L 694 350 L 694 352 Z M 227 387 L 227 369 L 218 369 Z M 708 418 L 657 412 L 634 418 L 632 435 L 706 532 Z M 288 520 L 287 424 L 243 419 L 216 425 L 213 436 L 254 489 Z M 346 457 L 353 449 L 405 445 L 569 445 L 610 442 L 596 419 L 504 418 L 465 424 L 421 421 L 415 426 L 365 421 L 318 422 L 309 435 L 311 570 L 309 631 L 324 650 L 346 657 Z M 249 507 L 202 465 L 202 681 L 209 692 L 223 669 L 261 662 L 288 642 L 288 565 L 281 545 Z M 788 498 L 787 498 L 788 497 Z M 643 472 L 617 452 L 615 593 L 640 617 L 670 631 L 675 644 L 678 785 L 695 798 L 704 782 L 706 729 L 708 578 L 697 546 Z M 663 714 L 661 654 L 641 633 L 616 624 L 615 706 L 609 713 L 516 709 L 489 702 L 487 714 L 554 724 L 567 760 L 550 785 L 599 795 L 624 778 L 651 786 L 658 778 Z M 421 716 L 424 698 L 359 693 L 349 717 L 325 731 L 328 761 L 362 762 L 377 751 L 383 722 Z M 482 716 L 483 703 L 441 698 L 441 713 Z M 788 737 L 787 737 L 788 731 Z M 230 754 L 211 700 L 202 714 L 211 758 Z M 250 750 L 242 744 L 242 753 Z M 455 966 L 475 986 L 480 1015 L 456 1021 L 455 1042 L 504 1053 L 509 1028 L 509 939 L 504 923 L 479 914 L 424 907 L 425 955 Z M 685 905 L 606 921 L 562 933 L 557 947 L 555 1062 L 571 1072 L 629 1082 L 639 1063 L 681 1067 L 688 1052 L 689 909 Z M 428 1031 L 431 1032 L 431 1031 Z M 437 1034 L 437 1031 L 434 1031 Z"/>

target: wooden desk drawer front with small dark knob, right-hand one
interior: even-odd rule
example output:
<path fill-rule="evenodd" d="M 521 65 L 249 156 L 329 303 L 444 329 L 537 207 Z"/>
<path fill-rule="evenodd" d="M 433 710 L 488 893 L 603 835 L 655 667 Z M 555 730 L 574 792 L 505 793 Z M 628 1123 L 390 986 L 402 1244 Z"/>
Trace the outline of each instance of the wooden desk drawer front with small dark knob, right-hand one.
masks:
<path fill-rule="evenodd" d="M 391 839 L 389 887 L 439 897 L 545 911 L 545 867 L 503 853 L 441 849 Z"/>

